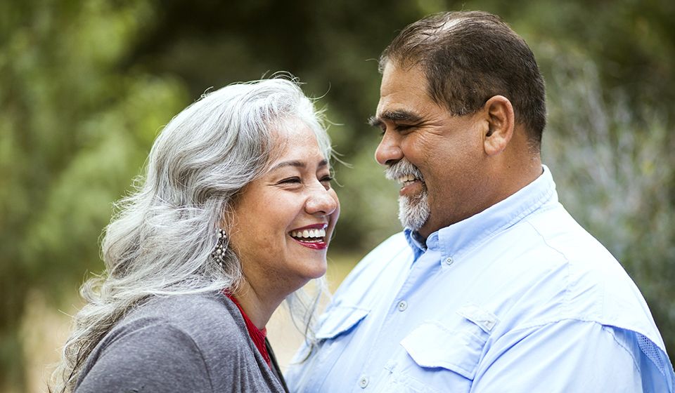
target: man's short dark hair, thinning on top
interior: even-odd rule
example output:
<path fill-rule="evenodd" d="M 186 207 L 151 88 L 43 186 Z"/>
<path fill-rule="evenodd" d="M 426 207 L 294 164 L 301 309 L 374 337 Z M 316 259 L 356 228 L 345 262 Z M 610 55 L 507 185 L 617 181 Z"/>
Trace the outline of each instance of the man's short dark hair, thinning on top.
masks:
<path fill-rule="evenodd" d="M 385 48 L 380 72 L 388 62 L 422 67 L 430 97 L 452 114 L 474 113 L 489 98 L 503 95 L 539 150 L 546 126 L 544 78 L 525 40 L 498 16 L 480 11 L 429 15 Z"/>

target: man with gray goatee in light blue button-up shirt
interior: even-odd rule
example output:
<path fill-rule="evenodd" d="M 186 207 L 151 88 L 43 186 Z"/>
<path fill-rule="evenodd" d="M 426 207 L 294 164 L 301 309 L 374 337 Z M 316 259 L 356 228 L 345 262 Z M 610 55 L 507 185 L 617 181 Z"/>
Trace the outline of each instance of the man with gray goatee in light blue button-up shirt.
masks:
<path fill-rule="evenodd" d="M 672 392 L 642 295 L 541 165 L 525 41 L 488 13 L 431 15 L 380 70 L 375 158 L 406 229 L 335 293 L 291 391 Z"/>

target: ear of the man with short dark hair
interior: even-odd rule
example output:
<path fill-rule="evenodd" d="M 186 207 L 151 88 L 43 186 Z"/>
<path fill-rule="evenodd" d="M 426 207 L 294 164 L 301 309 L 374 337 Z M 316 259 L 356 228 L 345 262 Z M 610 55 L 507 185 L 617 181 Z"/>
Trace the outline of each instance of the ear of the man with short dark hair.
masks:
<path fill-rule="evenodd" d="M 506 145 L 513 136 L 515 115 L 513 105 L 503 95 L 495 95 L 483 106 L 487 116 L 488 129 L 483 135 L 483 148 L 489 156 L 499 154 L 506 149 Z"/>

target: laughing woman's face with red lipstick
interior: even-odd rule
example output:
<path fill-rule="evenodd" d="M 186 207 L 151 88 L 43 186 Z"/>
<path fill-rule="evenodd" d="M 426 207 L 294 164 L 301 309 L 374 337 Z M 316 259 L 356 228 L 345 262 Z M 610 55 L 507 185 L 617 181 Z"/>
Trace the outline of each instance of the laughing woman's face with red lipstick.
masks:
<path fill-rule="evenodd" d="M 326 273 L 326 251 L 340 203 L 328 157 L 301 121 L 277 129 L 281 151 L 233 208 L 230 245 L 254 291 L 283 296 Z"/>

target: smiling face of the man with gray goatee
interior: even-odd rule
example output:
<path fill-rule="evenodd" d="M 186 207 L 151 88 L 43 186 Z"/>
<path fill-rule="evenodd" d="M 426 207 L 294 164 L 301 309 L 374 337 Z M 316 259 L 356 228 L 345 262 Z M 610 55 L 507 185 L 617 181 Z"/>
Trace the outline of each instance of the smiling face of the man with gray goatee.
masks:
<path fill-rule="evenodd" d="M 383 129 L 375 159 L 401 182 L 399 218 L 423 237 L 477 213 L 487 121 L 453 116 L 427 93 L 423 70 L 385 67 L 378 112 Z"/>

